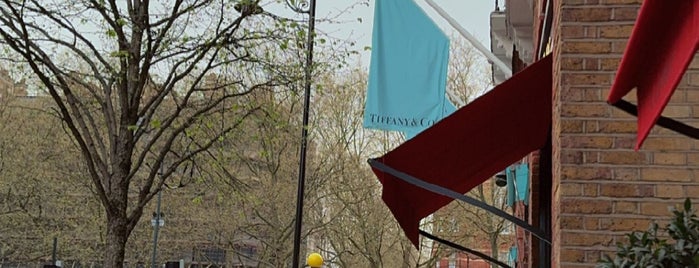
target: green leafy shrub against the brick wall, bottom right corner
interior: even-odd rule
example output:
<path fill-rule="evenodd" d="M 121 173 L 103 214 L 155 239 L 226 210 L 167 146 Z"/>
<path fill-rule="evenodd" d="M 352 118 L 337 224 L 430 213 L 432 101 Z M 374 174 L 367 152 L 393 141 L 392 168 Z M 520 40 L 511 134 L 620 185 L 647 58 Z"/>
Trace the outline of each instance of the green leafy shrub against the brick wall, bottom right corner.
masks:
<path fill-rule="evenodd" d="M 683 210 L 673 210 L 672 221 L 662 230 L 670 240 L 658 234 L 658 224 L 648 231 L 628 234 L 628 244 L 617 245 L 612 258 L 602 257 L 597 267 L 697 267 L 699 265 L 699 219 L 689 198 Z"/>

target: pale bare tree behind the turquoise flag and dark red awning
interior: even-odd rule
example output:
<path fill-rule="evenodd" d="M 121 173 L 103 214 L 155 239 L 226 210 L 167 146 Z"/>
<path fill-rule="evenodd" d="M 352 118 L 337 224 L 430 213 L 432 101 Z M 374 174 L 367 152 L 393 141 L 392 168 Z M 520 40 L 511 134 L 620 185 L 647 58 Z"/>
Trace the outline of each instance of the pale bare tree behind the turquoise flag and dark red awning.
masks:
<path fill-rule="evenodd" d="M 452 46 L 447 85 L 455 93 L 452 97 L 459 98 L 453 100 L 455 103 L 468 102 L 487 88 L 487 68 L 465 41 L 455 38 Z M 317 201 L 314 208 L 314 220 L 327 223 L 318 232 L 318 250 L 324 252 L 328 263 L 341 267 L 434 266 L 446 249 L 431 247 L 425 240 L 424 250 L 415 250 L 381 201 L 381 185 L 366 164 L 366 159 L 403 141 L 400 133 L 363 129 L 367 73 L 361 69 L 341 70 L 321 81 L 323 91 L 314 103 L 319 112 L 313 121 L 313 140 L 323 163 L 320 166 L 326 167 L 322 174 L 332 181 L 318 190 L 325 200 Z M 466 213 L 459 210 L 444 216 L 426 221 L 425 227 L 440 229 L 456 220 L 453 217 L 461 218 Z M 457 242 L 484 237 L 475 226 L 460 231 L 449 234 Z"/>

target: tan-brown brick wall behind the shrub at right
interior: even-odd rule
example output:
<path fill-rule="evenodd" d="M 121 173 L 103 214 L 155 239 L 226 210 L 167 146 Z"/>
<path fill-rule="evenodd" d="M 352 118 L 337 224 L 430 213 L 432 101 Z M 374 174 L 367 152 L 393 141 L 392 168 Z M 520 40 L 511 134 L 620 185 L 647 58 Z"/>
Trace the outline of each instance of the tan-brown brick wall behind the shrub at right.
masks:
<path fill-rule="evenodd" d="M 552 267 L 594 267 L 626 233 L 699 197 L 699 142 L 656 126 L 636 152 L 636 118 L 605 102 L 640 2 L 554 2 Z M 697 57 L 664 115 L 698 125 Z"/>

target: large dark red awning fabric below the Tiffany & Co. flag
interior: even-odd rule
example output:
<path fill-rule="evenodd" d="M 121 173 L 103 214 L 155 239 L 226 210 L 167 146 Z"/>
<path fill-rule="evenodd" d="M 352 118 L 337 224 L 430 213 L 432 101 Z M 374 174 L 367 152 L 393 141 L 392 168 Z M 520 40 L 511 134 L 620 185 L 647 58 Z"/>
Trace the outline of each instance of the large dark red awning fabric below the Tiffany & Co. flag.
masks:
<path fill-rule="evenodd" d="M 466 193 L 546 143 L 551 126 L 551 56 L 534 63 L 467 106 L 376 160 Z M 382 198 L 419 247 L 419 222 L 452 199 L 373 169 Z"/>

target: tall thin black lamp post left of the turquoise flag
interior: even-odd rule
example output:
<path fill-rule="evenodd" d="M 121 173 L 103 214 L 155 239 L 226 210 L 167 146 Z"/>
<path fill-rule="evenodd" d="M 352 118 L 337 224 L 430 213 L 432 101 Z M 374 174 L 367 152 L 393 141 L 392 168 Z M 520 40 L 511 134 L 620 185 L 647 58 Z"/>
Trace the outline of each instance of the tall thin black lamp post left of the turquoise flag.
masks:
<path fill-rule="evenodd" d="M 313 39 L 315 38 L 316 1 L 311 0 L 308 11 L 308 40 L 306 54 L 305 92 L 303 100 L 303 125 L 301 127 L 301 152 L 299 153 L 299 180 L 296 194 L 296 222 L 294 226 L 294 254 L 292 257 L 293 268 L 299 267 L 301 251 L 301 226 L 303 222 L 303 194 L 306 180 L 306 147 L 308 144 L 308 111 L 311 101 L 311 74 L 313 69 Z"/>

